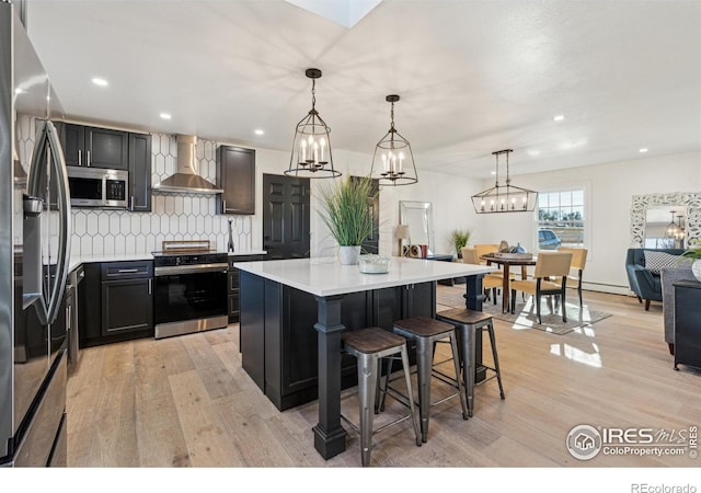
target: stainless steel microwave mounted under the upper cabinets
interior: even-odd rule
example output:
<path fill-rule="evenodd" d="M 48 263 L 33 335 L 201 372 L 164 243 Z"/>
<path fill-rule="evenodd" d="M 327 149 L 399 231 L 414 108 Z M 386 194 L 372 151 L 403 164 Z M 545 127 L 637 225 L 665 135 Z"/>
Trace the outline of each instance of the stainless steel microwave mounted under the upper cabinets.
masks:
<path fill-rule="evenodd" d="M 127 208 L 128 171 L 67 168 L 71 206 Z"/>

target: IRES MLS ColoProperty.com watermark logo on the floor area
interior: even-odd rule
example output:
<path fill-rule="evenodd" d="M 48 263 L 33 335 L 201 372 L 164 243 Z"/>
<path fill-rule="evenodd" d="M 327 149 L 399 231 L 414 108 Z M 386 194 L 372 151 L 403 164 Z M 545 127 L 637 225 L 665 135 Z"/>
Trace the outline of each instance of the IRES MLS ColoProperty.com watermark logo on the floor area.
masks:
<path fill-rule="evenodd" d="M 696 425 L 686 428 L 647 427 L 594 427 L 587 424 L 575 426 L 567 434 L 566 446 L 575 459 L 589 460 L 597 455 L 606 456 L 688 456 L 698 457 L 698 433 Z"/>

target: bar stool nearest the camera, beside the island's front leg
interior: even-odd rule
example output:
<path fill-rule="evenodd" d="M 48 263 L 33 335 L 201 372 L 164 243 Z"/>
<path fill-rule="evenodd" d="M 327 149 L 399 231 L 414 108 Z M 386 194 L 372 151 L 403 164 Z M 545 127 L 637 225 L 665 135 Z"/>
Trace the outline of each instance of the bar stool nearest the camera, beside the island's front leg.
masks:
<path fill-rule="evenodd" d="M 341 334 L 342 348 L 358 360 L 358 404 L 360 411 L 360 427 L 350 422 L 346 416 L 341 417 L 356 433 L 360 435 L 360 458 L 363 467 L 370 463 L 370 451 L 372 448 L 372 435 L 382 429 L 409 420 L 414 424 L 414 433 L 416 434 L 416 445 L 421 446 L 422 442 L 418 435 L 418 420 L 414 412 L 414 400 L 409 375 L 409 355 L 406 353 L 406 340 L 393 334 L 389 331 L 377 326 L 348 331 Z M 379 360 L 382 358 L 402 359 L 404 367 L 404 380 L 409 393 L 409 413 L 390 423 L 372 429 L 372 416 L 378 401 L 378 381 L 380 379 Z"/>

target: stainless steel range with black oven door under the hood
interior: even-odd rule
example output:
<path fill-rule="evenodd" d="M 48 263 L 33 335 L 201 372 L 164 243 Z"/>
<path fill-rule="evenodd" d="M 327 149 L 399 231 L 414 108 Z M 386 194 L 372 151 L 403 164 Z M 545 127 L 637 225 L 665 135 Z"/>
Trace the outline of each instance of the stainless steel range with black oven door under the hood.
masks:
<path fill-rule="evenodd" d="M 208 242 L 163 242 L 153 252 L 156 339 L 227 326 L 228 254 Z"/>

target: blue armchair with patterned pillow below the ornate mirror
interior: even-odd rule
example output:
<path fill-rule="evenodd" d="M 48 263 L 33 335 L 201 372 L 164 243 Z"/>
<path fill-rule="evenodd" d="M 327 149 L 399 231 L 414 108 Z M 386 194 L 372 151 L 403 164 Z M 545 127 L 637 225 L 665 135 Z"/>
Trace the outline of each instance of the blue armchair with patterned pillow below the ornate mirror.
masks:
<path fill-rule="evenodd" d="M 645 300 L 645 310 L 650 310 L 651 301 L 662 301 L 660 272 L 665 266 L 675 266 L 676 257 L 683 253 L 683 249 L 628 249 L 625 254 L 625 271 L 631 290 L 642 303 Z M 651 253 L 645 253 L 651 252 Z M 645 257 L 660 259 L 655 265 L 648 265 Z"/>

